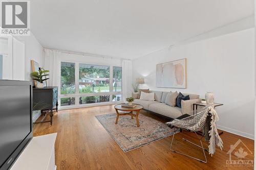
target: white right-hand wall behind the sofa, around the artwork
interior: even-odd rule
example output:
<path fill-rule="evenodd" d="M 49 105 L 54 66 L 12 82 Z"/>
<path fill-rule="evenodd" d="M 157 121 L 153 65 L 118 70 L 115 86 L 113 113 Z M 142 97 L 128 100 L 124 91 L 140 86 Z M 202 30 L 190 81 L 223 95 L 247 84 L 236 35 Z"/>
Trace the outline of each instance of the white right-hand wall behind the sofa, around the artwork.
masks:
<path fill-rule="evenodd" d="M 187 58 L 187 88 L 157 88 L 156 64 Z M 144 77 L 153 90 L 200 94 L 213 91 L 218 127 L 254 137 L 254 28 L 175 45 L 133 60 L 133 80 Z"/>

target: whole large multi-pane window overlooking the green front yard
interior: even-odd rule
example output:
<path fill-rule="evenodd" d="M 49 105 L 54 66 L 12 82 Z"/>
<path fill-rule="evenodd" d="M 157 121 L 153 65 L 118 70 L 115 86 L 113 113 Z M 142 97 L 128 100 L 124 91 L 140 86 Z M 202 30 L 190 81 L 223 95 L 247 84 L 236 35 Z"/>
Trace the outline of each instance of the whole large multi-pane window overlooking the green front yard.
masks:
<path fill-rule="evenodd" d="M 61 62 L 60 106 L 122 101 L 122 67 Z"/>

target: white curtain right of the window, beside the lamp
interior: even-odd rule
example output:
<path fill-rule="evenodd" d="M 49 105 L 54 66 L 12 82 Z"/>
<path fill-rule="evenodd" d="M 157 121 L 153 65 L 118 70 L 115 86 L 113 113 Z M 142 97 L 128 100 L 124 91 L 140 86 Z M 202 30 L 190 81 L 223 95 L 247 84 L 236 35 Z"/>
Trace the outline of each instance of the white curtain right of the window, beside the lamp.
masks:
<path fill-rule="evenodd" d="M 132 96 L 132 61 L 122 61 L 122 96 L 123 101 Z"/>

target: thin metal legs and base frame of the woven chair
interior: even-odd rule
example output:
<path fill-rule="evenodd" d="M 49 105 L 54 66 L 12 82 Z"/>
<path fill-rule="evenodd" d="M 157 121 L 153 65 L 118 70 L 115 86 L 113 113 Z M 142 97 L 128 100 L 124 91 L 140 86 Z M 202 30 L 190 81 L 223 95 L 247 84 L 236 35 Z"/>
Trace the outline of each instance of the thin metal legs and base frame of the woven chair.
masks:
<path fill-rule="evenodd" d="M 179 127 L 176 127 L 176 128 L 179 128 Z M 180 129 L 180 128 L 179 128 L 179 129 Z M 182 128 L 182 129 L 183 129 L 183 128 Z M 185 138 L 183 137 L 183 130 L 182 130 L 182 129 L 180 129 L 181 134 L 182 134 L 182 139 L 185 140 L 185 141 L 187 141 L 187 142 L 189 142 L 189 143 L 191 143 L 191 144 L 196 145 L 196 146 L 199 147 L 199 148 L 201 148 L 201 149 L 203 150 L 203 154 L 204 154 L 205 160 L 202 160 L 202 159 L 199 159 L 199 158 L 196 158 L 196 157 L 187 155 L 187 154 L 185 154 L 185 153 L 181 153 L 181 152 L 178 152 L 178 151 L 173 150 L 173 149 L 172 149 L 172 145 L 173 145 L 173 141 L 174 141 L 174 135 L 175 135 L 176 133 L 173 134 L 172 142 L 170 143 L 170 150 L 173 151 L 174 153 L 178 153 L 178 154 L 187 156 L 187 157 L 189 157 L 189 158 L 193 158 L 193 159 L 199 160 L 199 161 L 201 161 L 201 162 L 207 163 L 207 158 L 206 158 L 206 155 L 205 155 L 204 150 L 207 151 L 207 152 L 209 152 L 209 151 L 203 147 L 202 138 L 203 138 L 204 134 L 203 134 L 202 137 L 200 138 L 200 137 L 198 136 L 198 134 L 197 134 L 196 131 L 191 130 L 191 131 L 195 132 L 195 134 L 197 135 L 198 139 L 200 140 L 200 143 L 201 143 L 201 146 L 200 146 L 200 145 L 198 145 L 198 144 L 196 144 L 196 143 L 193 143 L 193 142 L 191 142 L 191 141 L 185 139 Z M 189 130 L 189 129 L 187 129 L 187 130 Z M 178 132 L 178 133 L 179 133 L 179 132 Z"/>

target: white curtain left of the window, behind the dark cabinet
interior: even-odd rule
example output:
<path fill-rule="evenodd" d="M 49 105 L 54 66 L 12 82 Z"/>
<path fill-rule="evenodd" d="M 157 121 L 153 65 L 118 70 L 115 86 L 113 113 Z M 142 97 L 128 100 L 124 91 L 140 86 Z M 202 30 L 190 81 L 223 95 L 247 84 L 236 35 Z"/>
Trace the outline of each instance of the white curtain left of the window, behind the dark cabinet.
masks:
<path fill-rule="evenodd" d="M 48 69 L 49 80 L 48 86 L 59 86 L 60 83 L 60 55 L 61 52 L 56 50 L 45 49 L 45 65 L 44 68 Z"/>

